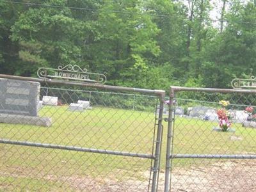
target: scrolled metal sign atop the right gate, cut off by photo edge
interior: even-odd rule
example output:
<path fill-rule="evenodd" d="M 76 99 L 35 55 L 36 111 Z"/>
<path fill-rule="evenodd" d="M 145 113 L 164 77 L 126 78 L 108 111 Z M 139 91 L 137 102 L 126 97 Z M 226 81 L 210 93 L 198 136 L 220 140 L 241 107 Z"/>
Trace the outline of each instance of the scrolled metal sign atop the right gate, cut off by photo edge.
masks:
<path fill-rule="evenodd" d="M 256 76 L 251 76 L 250 79 L 233 79 L 231 85 L 235 89 L 247 88 L 252 89 L 256 88 Z"/>

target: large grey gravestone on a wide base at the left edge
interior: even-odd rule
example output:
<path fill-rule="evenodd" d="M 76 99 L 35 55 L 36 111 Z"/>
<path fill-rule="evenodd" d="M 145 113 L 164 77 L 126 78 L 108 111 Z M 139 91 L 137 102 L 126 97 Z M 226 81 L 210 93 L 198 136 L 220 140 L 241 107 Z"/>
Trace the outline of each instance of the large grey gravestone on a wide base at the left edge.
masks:
<path fill-rule="evenodd" d="M 37 116 L 40 83 L 0 78 L 0 123 L 50 127 L 51 118 Z"/>

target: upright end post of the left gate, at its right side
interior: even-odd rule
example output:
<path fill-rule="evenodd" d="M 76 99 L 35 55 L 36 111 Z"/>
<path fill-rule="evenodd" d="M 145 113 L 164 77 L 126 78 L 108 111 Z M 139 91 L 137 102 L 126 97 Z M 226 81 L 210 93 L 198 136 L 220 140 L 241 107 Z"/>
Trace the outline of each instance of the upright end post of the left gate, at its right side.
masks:
<path fill-rule="evenodd" d="M 159 161 L 161 155 L 161 143 L 162 143 L 162 122 L 163 122 L 163 109 L 164 109 L 164 96 L 165 92 L 162 92 L 160 95 L 160 108 L 158 115 L 158 123 L 157 123 L 157 138 L 156 138 L 156 150 L 155 150 L 155 159 L 154 159 L 154 167 L 153 170 L 153 179 L 152 179 L 152 192 L 157 190 L 157 178 L 159 174 Z"/>

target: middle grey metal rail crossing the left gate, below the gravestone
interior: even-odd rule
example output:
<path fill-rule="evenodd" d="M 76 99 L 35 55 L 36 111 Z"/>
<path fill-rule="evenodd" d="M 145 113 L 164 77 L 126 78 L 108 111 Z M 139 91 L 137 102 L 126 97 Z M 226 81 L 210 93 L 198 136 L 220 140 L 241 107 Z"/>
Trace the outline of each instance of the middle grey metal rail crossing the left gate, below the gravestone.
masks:
<path fill-rule="evenodd" d="M 13 141 L 13 140 L 4 140 L 4 139 L 0 139 L 0 143 L 11 144 L 11 145 L 22 145 L 22 146 L 29 146 L 29 147 L 74 150 L 74 151 L 79 151 L 79 152 L 91 152 L 91 153 L 108 154 L 108 155 L 115 155 L 115 156 L 129 156 L 129 157 L 140 157 L 140 158 L 145 158 L 145 159 L 155 159 L 155 157 L 152 154 L 136 154 L 136 153 L 131 153 L 131 152 L 119 152 L 119 151 L 115 151 L 115 150 L 104 150 L 104 149 L 95 149 L 95 148 L 54 145 L 54 144 L 49 144 L 49 143 L 33 143 L 33 142 L 29 142 L 29 141 Z"/>

